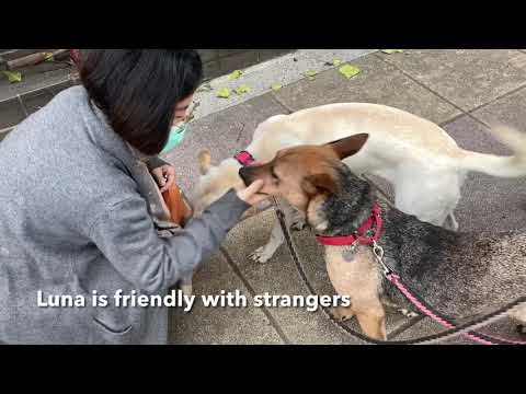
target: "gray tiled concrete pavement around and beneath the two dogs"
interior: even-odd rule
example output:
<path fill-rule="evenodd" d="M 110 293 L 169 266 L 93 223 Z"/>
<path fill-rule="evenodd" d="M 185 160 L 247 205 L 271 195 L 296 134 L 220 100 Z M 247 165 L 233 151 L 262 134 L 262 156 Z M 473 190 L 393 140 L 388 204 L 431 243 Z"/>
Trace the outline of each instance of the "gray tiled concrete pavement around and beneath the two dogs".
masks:
<path fill-rule="evenodd" d="M 386 55 L 364 51 L 351 58 L 362 73 L 345 79 L 338 69 L 323 65 L 315 80 L 296 77 L 277 92 L 259 91 L 249 100 L 220 101 L 208 92 L 202 97 L 206 115 L 192 125 L 186 141 L 167 159 L 180 173 L 186 190 L 197 179 L 196 154 L 210 149 L 214 161 L 231 157 L 247 147 L 256 125 L 270 116 L 336 102 L 371 102 L 399 107 L 442 126 L 468 149 L 496 154 L 508 153 L 488 135 L 493 120 L 524 129 L 526 125 L 526 50 L 405 50 Z M 328 58 L 333 55 L 325 51 Z M 344 59 L 348 60 L 348 59 Z M 313 60 L 312 60 L 313 61 Z M 296 62 L 287 69 L 300 76 L 312 62 Z M 258 73 L 260 72 L 260 73 Z M 273 71 L 274 72 L 274 71 Z M 268 81 L 264 68 L 247 73 L 243 81 Z M 273 79 L 273 78 L 271 78 Z M 216 82 L 216 86 L 226 80 Z M 255 83 L 255 82 L 251 82 Z M 265 82 L 264 85 L 266 85 Z M 206 94 L 206 93 L 203 93 Z M 215 104 L 207 104 L 214 103 Z M 207 109 L 208 108 L 208 109 Z M 375 179 L 376 181 L 376 179 Z M 387 190 L 389 186 L 379 181 Z M 499 179 L 471 174 L 457 209 L 461 230 L 524 229 L 526 179 Z M 391 193 L 392 195 L 392 193 Z M 283 246 L 266 265 L 249 259 L 270 233 L 274 211 L 250 217 L 229 235 L 221 251 L 195 278 L 196 294 L 241 290 L 247 297 L 271 294 L 333 294 L 324 269 L 321 247 L 309 230 L 291 233 L 294 247 Z M 345 326 L 357 328 L 354 321 Z M 327 311 L 305 309 L 206 309 L 201 304 L 191 314 L 171 313 L 172 344 L 359 344 L 345 326 L 331 321 Z M 390 339 L 409 339 L 442 331 L 422 316 L 388 316 Z M 489 333 L 518 338 L 506 318 L 487 327 Z M 448 344 L 467 343 L 464 339 Z"/>

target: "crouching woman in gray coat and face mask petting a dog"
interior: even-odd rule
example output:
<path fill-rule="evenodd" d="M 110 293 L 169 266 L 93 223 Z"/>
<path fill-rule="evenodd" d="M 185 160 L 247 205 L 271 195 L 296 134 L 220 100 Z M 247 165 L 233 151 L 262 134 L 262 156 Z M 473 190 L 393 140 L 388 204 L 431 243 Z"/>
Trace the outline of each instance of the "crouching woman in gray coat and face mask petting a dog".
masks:
<path fill-rule="evenodd" d="M 202 80 L 199 56 L 82 55 L 82 85 L 0 144 L 0 341 L 165 344 L 167 309 L 117 306 L 115 293 L 165 294 L 263 198 L 261 184 L 230 190 L 183 231 L 160 237 L 137 174 L 151 159 L 161 187 L 173 183 L 174 170 L 155 157 L 171 130 L 181 134 Z M 60 296 L 85 302 L 53 308 Z M 107 297 L 107 305 L 93 296 Z"/>

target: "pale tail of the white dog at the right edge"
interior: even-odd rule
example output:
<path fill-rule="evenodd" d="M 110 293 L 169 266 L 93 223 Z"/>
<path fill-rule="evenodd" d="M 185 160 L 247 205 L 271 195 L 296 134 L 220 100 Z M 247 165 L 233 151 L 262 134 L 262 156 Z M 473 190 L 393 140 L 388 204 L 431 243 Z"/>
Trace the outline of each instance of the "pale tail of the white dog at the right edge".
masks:
<path fill-rule="evenodd" d="M 517 131 L 507 126 L 495 126 L 491 128 L 491 134 L 515 154 L 499 157 L 465 150 L 465 154 L 460 159 L 460 166 L 468 171 L 499 177 L 526 176 L 526 132 Z"/>

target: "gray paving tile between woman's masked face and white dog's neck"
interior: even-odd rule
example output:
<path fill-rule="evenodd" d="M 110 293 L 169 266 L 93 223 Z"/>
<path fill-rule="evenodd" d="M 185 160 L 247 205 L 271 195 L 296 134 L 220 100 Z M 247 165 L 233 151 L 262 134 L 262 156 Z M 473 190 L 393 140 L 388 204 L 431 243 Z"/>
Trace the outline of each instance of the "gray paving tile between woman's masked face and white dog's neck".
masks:
<path fill-rule="evenodd" d="M 203 149 L 209 149 L 218 164 L 247 148 L 260 123 L 283 113 L 281 105 L 264 95 L 192 123 L 183 143 L 164 155 L 175 166 L 181 187 L 188 192 L 197 181 L 197 154 Z"/>

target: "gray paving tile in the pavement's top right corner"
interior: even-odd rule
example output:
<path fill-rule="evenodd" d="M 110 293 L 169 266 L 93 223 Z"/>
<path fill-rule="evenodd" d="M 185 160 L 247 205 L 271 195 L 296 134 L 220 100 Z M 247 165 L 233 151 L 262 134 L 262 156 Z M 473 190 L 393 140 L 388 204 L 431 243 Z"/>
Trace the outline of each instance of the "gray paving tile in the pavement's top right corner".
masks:
<path fill-rule="evenodd" d="M 511 49 L 428 49 L 380 55 L 464 111 L 526 84 L 526 55 Z"/>

